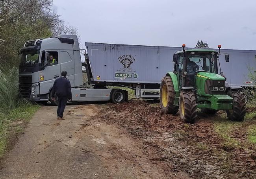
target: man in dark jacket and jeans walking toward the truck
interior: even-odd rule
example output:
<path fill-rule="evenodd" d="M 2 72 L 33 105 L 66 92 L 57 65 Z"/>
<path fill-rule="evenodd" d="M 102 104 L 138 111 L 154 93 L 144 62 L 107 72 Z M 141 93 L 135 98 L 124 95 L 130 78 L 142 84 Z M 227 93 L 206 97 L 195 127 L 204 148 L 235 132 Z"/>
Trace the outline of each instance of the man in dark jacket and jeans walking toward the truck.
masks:
<path fill-rule="evenodd" d="M 54 96 L 56 93 L 59 101 L 58 109 L 57 109 L 58 120 L 64 120 L 63 112 L 67 104 L 67 101 L 71 99 L 71 85 L 69 80 L 66 78 L 66 76 L 67 76 L 66 71 L 61 72 L 61 77 L 57 78 L 54 81 L 54 84 L 52 87 L 52 94 Z M 55 100 L 55 98 L 52 97 L 52 100 Z"/>

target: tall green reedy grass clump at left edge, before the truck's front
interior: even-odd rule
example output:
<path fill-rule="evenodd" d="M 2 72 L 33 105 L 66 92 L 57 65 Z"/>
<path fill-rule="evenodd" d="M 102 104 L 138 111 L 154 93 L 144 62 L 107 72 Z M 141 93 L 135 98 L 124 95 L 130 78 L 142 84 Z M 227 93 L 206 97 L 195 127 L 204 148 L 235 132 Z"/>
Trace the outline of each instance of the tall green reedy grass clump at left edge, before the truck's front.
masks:
<path fill-rule="evenodd" d="M 0 113 L 17 107 L 19 94 L 18 69 L 0 66 Z"/>

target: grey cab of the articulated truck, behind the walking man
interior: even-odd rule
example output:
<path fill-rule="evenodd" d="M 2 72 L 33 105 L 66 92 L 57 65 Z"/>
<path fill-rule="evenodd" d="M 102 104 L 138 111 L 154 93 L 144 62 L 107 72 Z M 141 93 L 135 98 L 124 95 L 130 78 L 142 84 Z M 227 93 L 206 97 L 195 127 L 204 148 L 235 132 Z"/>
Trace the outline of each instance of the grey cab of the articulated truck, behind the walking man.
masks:
<path fill-rule="evenodd" d="M 60 35 L 28 41 L 20 50 L 20 95 L 32 101 L 51 100 L 51 89 L 61 71 L 67 71 L 71 87 L 83 85 L 82 63 L 76 35 Z"/>

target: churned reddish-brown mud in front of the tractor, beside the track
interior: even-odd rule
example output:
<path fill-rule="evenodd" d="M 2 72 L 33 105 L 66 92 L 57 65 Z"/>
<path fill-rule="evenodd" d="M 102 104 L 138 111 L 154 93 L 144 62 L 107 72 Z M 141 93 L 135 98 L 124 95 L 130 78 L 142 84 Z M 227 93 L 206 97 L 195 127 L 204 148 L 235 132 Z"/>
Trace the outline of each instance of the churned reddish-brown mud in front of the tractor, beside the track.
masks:
<path fill-rule="evenodd" d="M 106 111 L 109 111 L 106 113 Z M 163 114 L 160 107 L 145 101 L 110 104 L 95 120 L 116 124 L 133 138 L 148 160 L 169 172 L 186 172 L 195 178 L 255 178 L 256 168 L 250 148 L 225 149 L 223 138 L 214 131 L 218 118 L 199 114 L 195 124 L 184 124 L 178 115 Z M 243 131 L 240 131 L 244 138 Z"/>

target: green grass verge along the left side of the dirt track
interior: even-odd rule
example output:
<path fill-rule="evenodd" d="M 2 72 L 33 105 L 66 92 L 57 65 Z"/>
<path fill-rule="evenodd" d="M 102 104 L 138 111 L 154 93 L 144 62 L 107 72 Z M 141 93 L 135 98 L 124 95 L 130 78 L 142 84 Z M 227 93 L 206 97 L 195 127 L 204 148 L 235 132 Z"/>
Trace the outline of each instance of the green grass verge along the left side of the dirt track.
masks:
<path fill-rule="evenodd" d="M 18 107 L 0 114 L 0 158 L 7 149 L 9 138 L 22 132 L 22 123 L 30 120 L 39 108 L 39 105 L 22 102 Z"/>

